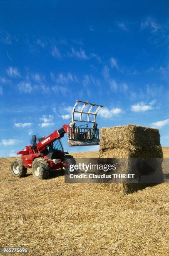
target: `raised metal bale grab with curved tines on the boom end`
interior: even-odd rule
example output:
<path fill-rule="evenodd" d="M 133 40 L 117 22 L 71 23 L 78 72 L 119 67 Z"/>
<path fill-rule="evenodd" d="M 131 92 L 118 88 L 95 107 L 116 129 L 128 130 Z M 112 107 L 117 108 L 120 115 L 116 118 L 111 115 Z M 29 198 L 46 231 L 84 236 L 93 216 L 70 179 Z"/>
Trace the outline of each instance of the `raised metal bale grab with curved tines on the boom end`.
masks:
<path fill-rule="evenodd" d="M 82 106 L 79 103 L 84 103 Z M 78 105 L 78 106 L 77 106 Z M 85 111 L 85 107 L 91 105 L 88 112 Z M 97 106 L 97 109 L 92 113 L 92 108 Z M 97 128 L 96 117 L 100 108 L 104 106 L 90 103 L 87 101 L 77 100 L 72 110 L 72 121 L 68 128 L 67 140 L 69 146 L 92 146 L 99 145 L 99 129 Z M 75 113 L 80 115 L 80 119 L 75 117 Z M 83 114 L 87 115 L 87 120 L 83 118 Z M 94 120 L 90 120 L 93 116 Z M 84 120 L 83 120 L 84 119 Z M 75 126 L 75 122 L 92 123 L 92 128 L 88 128 L 88 124 Z"/>

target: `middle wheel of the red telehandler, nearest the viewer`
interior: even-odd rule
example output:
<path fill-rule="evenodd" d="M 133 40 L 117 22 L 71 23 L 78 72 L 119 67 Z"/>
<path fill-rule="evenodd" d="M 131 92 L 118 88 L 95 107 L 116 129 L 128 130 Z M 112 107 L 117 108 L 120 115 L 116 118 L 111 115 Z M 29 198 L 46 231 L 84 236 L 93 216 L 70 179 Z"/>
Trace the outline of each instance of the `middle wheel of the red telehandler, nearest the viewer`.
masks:
<path fill-rule="evenodd" d="M 50 167 L 45 158 L 35 158 L 32 164 L 32 174 L 36 179 L 47 179 L 50 174 Z"/>

